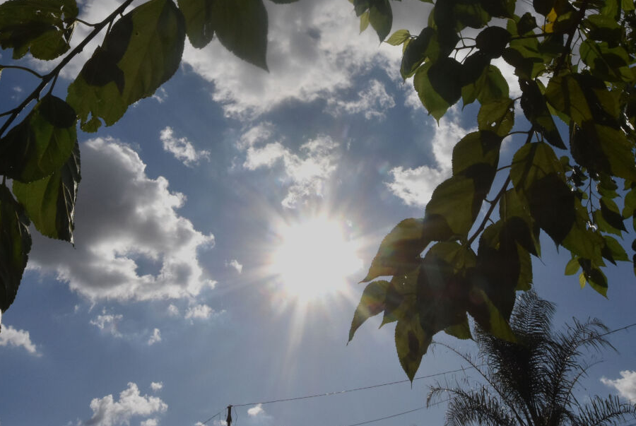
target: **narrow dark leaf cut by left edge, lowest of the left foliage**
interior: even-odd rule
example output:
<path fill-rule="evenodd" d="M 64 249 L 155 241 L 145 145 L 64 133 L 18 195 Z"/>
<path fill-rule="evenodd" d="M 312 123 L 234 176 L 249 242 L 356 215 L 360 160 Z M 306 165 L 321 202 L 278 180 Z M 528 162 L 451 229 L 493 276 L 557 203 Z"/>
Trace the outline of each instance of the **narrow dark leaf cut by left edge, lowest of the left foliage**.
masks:
<path fill-rule="evenodd" d="M 30 249 L 29 219 L 11 192 L 0 185 L 0 312 L 16 298 Z"/>

